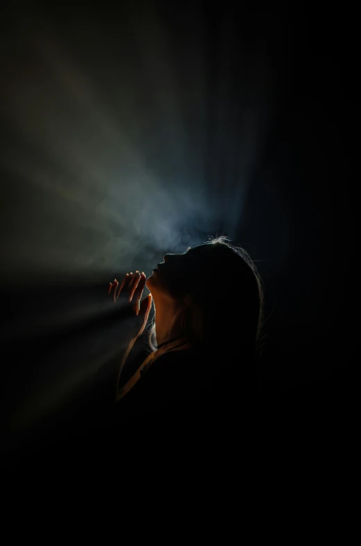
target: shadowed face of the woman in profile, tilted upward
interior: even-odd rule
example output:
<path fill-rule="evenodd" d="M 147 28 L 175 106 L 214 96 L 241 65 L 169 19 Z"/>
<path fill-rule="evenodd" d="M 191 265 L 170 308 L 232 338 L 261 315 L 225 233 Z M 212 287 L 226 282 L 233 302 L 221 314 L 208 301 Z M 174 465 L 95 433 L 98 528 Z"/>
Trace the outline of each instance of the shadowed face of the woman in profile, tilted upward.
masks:
<path fill-rule="evenodd" d="M 205 274 L 205 264 L 210 255 L 210 244 L 188 248 L 183 254 L 166 254 L 164 262 L 153 269 L 153 275 L 146 280 L 146 287 L 154 294 L 162 294 L 171 298 L 181 298 L 188 291 L 201 284 L 202 274 Z M 202 268 L 203 264 L 203 268 Z"/>

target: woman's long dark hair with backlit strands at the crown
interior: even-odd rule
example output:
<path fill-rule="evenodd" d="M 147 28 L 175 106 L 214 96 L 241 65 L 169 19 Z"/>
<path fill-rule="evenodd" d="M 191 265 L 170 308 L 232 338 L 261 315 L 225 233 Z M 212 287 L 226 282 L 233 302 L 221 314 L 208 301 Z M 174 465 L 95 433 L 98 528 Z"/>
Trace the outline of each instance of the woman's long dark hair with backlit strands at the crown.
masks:
<path fill-rule="evenodd" d="M 264 300 L 260 274 L 246 250 L 228 243 L 228 237 L 210 237 L 207 246 L 210 252 L 192 268 L 193 282 L 180 287 L 187 303 L 169 324 L 168 337 L 177 325 L 194 346 L 212 355 L 250 350 L 255 356 Z M 151 351 L 157 348 L 155 319 L 148 336 Z"/>

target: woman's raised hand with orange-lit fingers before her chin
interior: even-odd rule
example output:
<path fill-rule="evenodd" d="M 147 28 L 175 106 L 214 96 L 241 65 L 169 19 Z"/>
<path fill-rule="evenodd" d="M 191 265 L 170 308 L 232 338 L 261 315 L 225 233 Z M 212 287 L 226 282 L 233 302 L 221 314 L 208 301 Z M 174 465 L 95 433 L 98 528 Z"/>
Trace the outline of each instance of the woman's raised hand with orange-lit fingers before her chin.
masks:
<path fill-rule="evenodd" d="M 117 279 L 109 283 L 108 294 L 119 307 L 121 317 L 124 317 L 126 334 L 131 339 L 142 335 L 151 310 L 151 294 L 142 300 L 145 282 L 145 273 L 135 271 L 126 273 L 120 286 Z"/>

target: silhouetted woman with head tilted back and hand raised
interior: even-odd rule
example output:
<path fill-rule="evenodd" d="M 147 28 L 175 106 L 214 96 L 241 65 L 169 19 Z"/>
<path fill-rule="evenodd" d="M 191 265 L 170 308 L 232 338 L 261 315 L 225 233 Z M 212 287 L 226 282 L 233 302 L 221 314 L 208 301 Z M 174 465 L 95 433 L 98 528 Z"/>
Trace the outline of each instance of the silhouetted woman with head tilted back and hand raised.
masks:
<path fill-rule="evenodd" d="M 119 371 L 119 414 L 146 414 L 187 404 L 224 407 L 237 403 L 255 374 L 262 322 L 260 275 L 242 248 L 225 236 L 168 254 L 146 279 L 127 273 L 109 294 L 121 297 L 137 332 Z M 151 292 L 141 301 L 144 284 Z M 142 335 L 154 301 L 151 352 L 128 376 L 131 349 Z M 137 323 L 138 321 L 138 323 Z M 125 364 L 125 365 L 124 365 Z"/>

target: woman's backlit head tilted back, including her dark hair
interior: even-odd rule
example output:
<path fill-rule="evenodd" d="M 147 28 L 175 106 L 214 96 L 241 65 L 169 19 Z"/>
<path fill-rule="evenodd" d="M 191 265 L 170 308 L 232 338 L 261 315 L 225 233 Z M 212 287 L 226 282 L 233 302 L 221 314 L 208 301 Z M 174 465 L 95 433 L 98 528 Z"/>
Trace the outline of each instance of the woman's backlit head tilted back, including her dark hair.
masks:
<path fill-rule="evenodd" d="M 173 310 L 169 336 L 176 327 L 195 346 L 255 348 L 262 321 L 260 275 L 245 250 L 225 236 L 167 254 L 158 271 L 146 280 L 157 309 Z M 156 348 L 156 325 L 149 335 Z"/>

